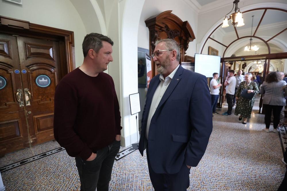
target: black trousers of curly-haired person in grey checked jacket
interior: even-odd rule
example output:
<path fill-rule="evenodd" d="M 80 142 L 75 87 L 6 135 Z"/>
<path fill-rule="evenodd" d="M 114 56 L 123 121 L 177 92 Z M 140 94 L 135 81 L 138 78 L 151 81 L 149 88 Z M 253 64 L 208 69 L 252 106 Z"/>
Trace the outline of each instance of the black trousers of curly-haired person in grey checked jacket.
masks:
<path fill-rule="evenodd" d="M 283 107 L 283 105 L 268 105 L 263 104 L 265 107 L 265 126 L 267 129 L 269 129 L 270 123 L 271 123 L 271 113 L 273 111 L 273 128 L 277 129 L 277 126 L 280 121 L 280 112 Z"/>

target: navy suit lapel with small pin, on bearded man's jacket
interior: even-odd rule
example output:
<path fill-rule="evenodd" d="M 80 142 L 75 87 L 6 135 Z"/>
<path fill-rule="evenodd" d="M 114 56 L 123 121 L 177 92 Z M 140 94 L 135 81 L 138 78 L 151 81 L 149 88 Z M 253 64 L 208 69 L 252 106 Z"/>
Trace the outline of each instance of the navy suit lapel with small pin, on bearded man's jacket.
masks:
<path fill-rule="evenodd" d="M 163 103 L 165 103 L 165 101 L 167 100 L 167 98 L 170 96 L 170 94 L 174 91 L 174 88 L 176 87 L 176 85 L 178 84 L 178 82 L 181 79 L 181 75 L 183 72 L 183 67 L 180 65 L 178 67 L 178 70 L 176 71 L 176 73 L 174 74 L 174 77 L 172 78 L 172 80 L 169 83 L 169 86 L 167 87 L 167 89 L 165 90 L 163 97 L 161 98 L 161 101 L 159 102 L 159 105 L 157 106 L 157 109 L 155 111 L 155 113 L 157 112 L 157 110 L 163 105 Z"/>

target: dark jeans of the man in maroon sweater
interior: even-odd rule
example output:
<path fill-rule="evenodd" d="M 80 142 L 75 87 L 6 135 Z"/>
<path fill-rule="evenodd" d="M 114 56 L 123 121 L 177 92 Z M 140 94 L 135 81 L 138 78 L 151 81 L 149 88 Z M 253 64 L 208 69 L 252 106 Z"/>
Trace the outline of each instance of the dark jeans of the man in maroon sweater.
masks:
<path fill-rule="evenodd" d="M 76 157 L 76 166 L 78 168 L 81 191 L 107 191 L 115 156 L 120 150 L 120 141 L 114 141 L 109 146 L 97 151 L 97 157 L 93 161 L 83 161 Z"/>

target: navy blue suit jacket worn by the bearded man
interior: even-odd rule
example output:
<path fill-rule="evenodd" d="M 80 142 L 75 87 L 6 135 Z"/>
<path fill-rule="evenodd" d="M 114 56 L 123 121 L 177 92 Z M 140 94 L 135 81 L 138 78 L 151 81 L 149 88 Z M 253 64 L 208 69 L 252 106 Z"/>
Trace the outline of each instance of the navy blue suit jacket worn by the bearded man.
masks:
<path fill-rule="evenodd" d="M 157 75 L 149 84 L 138 150 L 143 155 L 147 141 L 153 171 L 173 174 L 183 164 L 197 166 L 205 153 L 212 132 L 211 96 L 205 76 L 179 66 L 151 119 L 147 140 L 147 118 L 159 83 Z"/>

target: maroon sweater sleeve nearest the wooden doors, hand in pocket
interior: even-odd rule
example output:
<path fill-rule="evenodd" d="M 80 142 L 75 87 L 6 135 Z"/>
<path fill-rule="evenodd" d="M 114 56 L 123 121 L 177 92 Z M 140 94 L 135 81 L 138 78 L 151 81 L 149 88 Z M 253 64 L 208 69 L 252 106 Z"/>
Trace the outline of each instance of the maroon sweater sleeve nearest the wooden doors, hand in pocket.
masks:
<path fill-rule="evenodd" d="M 54 136 L 66 148 L 71 157 L 80 156 L 86 160 L 92 150 L 74 131 L 77 115 L 77 92 L 69 84 L 61 81 L 55 91 Z"/>

